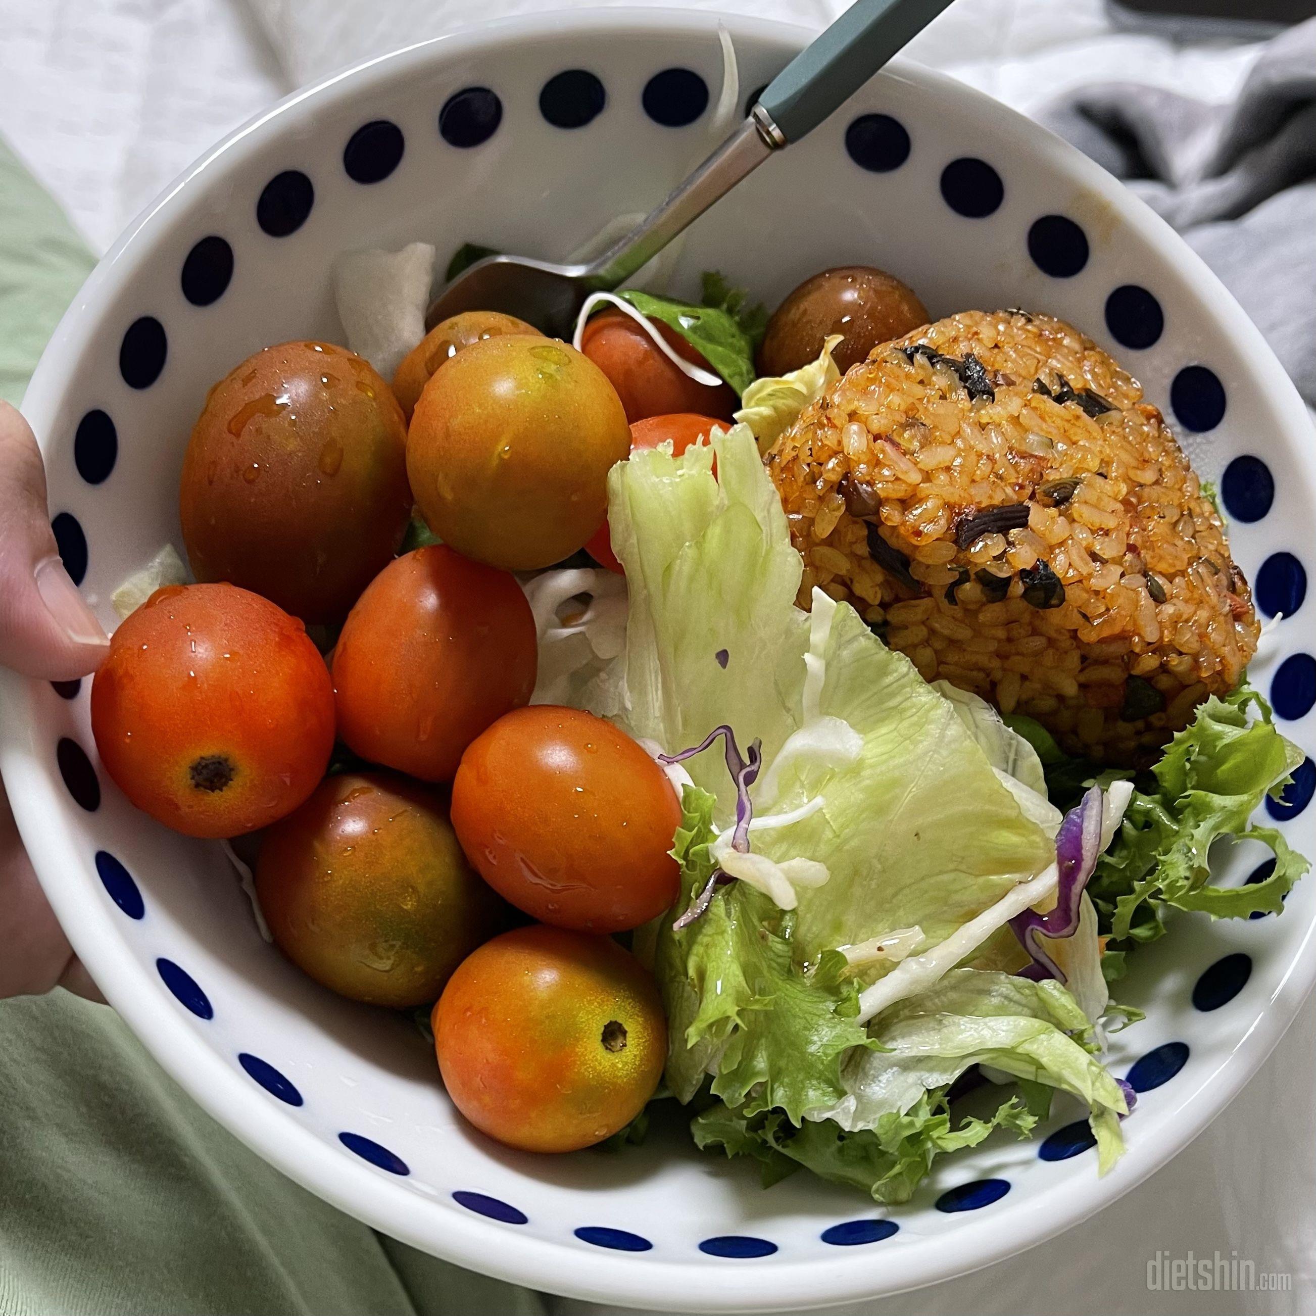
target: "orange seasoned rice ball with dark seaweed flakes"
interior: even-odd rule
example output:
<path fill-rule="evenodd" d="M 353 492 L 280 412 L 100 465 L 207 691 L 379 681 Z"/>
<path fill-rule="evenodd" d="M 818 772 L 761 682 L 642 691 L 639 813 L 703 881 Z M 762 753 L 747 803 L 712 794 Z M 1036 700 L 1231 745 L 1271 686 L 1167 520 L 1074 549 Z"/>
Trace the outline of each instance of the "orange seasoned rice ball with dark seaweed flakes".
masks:
<path fill-rule="evenodd" d="M 969 311 L 873 350 L 767 457 L 815 586 L 923 675 L 1142 763 L 1259 633 L 1159 411 L 1045 315 Z"/>

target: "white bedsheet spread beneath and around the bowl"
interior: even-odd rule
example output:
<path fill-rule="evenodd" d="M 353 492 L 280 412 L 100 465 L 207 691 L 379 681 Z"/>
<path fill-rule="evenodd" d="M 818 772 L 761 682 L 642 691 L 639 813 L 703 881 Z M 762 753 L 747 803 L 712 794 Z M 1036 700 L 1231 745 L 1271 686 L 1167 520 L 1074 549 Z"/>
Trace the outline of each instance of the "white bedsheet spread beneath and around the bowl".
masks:
<path fill-rule="evenodd" d="M 842 0 L 687 0 L 822 25 Z M 486 0 L 479 13 L 565 8 Z M 0 133 L 104 250 L 191 159 L 332 68 L 449 30 L 470 0 L 0 0 Z M 1100 0 L 958 0 L 913 53 L 1024 112 L 1076 84 L 1136 79 L 1232 95 L 1253 49 L 1115 32 Z M 1316 1003 L 1191 1148 L 1063 1238 L 979 1275 L 865 1304 L 866 1316 L 1299 1316 L 1316 1311 Z M 1290 1292 L 1152 1292 L 1158 1249 L 1219 1249 Z M 559 1303 L 563 1313 L 599 1312 Z"/>

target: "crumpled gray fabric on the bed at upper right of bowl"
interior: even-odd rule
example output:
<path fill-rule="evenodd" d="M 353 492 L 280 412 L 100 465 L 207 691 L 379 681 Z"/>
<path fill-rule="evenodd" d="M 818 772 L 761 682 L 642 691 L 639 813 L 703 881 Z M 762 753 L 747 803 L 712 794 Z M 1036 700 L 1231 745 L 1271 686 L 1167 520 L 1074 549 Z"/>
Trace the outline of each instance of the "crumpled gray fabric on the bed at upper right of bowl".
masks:
<path fill-rule="evenodd" d="M 1103 83 L 1038 118 L 1184 236 L 1316 407 L 1316 18 L 1267 43 L 1232 104 Z"/>

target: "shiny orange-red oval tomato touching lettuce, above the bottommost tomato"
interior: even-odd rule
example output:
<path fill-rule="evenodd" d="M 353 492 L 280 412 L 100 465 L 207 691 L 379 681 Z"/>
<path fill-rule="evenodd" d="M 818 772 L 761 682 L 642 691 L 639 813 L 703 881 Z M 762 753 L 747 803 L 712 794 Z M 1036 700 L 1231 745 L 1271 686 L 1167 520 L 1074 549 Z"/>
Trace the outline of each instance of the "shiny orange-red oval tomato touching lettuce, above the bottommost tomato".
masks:
<path fill-rule="evenodd" d="M 500 717 L 453 782 L 453 826 L 476 871 L 559 928 L 621 932 L 667 909 L 679 825 L 662 769 L 611 722 L 574 708 Z"/>

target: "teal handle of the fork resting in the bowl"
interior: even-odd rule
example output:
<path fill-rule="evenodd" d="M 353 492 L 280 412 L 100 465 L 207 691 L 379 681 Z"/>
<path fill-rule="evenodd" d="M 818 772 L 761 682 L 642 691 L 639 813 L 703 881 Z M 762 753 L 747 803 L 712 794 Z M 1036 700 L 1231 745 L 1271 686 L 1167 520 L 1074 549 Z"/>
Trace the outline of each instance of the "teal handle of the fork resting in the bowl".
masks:
<path fill-rule="evenodd" d="M 950 0 L 857 0 L 765 88 L 758 104 L 797 142 L 850 99 Z"/>

